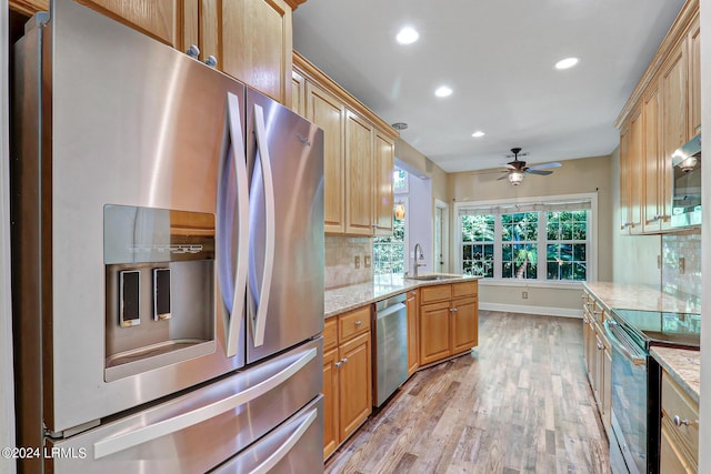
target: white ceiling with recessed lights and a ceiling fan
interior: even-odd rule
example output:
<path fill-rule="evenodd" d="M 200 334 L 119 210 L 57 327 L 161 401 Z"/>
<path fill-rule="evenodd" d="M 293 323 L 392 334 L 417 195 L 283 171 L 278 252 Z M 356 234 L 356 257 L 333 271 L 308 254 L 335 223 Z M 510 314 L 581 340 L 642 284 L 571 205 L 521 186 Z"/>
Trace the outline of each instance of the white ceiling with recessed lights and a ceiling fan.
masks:
<path fill-rule="evenodd" d="M 683 0 L 308 0 L 294 49 L 447 172 L 610 154 Z M 420 39 L 400 46 L 400 28 Z M 567 71 L 553 64 L 580 63 Z M 447 99 L 434 89 L 448 84 Z M 471 134 L 482 130 L 485 135 Z"/>

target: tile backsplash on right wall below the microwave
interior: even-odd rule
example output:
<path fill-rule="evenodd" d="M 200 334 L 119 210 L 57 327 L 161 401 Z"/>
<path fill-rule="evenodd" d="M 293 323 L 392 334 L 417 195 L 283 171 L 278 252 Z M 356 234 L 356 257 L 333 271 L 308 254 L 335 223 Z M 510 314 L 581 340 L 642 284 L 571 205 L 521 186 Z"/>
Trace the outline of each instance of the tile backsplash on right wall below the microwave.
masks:
<path fill-rule="evenodd" d="M 662 291 L 701 305 L 701 231 L 662 235 Z"/>

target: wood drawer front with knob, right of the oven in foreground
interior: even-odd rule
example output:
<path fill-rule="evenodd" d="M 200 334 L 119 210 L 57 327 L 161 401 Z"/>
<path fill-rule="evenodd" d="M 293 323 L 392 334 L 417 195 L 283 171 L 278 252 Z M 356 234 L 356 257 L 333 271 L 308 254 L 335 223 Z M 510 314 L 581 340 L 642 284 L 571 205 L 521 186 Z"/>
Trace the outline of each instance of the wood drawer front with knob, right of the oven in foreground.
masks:
<path fill-rule="evenodd" d="M 675 426 L 674 416 L 687 424 Z M 668 418 L 668 426 L 679 437 L 682 446 L 689 452 L 694 463 L 699 462 L 699 409 L 674 382 L 671 376 L 663 372 L 662 375 L 662 417 Z"/>

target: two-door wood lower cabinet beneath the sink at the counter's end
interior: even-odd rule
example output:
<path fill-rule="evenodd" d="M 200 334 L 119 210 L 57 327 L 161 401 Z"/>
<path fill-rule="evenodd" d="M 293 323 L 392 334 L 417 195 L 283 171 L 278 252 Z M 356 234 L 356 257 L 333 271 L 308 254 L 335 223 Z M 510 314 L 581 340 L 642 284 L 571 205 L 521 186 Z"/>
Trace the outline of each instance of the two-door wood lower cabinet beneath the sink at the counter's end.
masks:
<path fill-rule="evenodd" d="M 420 289 L 420 365 L 465 352 L 479 343 L 478 282 Z"/>

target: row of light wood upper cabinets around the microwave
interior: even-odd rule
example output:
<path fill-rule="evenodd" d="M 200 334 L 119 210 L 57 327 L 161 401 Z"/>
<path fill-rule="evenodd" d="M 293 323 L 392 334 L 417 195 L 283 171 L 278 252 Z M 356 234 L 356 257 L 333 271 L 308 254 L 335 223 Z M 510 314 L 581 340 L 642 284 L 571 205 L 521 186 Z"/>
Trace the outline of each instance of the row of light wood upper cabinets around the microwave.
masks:
<path fill-rule="evenodd" d="M 672 229 L 672 154 L 701 130 L 700 37 L 699 1 L 687 0 L 615 122 L 623 233 Z"/>

